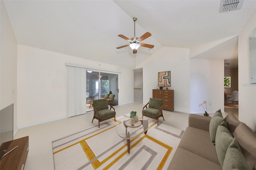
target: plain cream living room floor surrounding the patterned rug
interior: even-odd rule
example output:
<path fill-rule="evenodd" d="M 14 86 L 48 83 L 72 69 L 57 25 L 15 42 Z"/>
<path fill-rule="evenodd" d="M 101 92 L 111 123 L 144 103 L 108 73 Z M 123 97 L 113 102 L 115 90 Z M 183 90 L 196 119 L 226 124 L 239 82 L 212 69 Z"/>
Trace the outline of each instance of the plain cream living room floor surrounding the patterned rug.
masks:
<path fill-rule="evenodd" d="M 130 113 L 131 110 L 137 111 L 138 116 L 142 117 L 141 110 L 143 107 L 142 101 L 138 100 L 138 102 L 118 105 L 114 108 L 116 109 L 116 117 Z M 188 113 L 164 110 L 163 114 L 165 121 L 160 118 L 160 123 L 181 130 L 185 130 L 188 126 Z M 98 125 L 96 119 L 92 123 L 92 117 L 93 112 L 88 112 L 84 115 L 19 129 L 14 139 L 29 136 L 29 152 L 24 169 L 53 170 L 52 140 Z"/>

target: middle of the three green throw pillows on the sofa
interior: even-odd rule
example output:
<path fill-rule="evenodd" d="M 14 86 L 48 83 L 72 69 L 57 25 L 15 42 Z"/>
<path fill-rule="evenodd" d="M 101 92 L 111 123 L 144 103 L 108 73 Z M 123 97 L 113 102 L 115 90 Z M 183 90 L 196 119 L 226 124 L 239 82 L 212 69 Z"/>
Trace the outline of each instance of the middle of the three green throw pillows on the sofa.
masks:
<path fill-rule="evenodd" d="M 230 134 L 227 128 L 226 119 L 224 119 L 224 121 L 222 121 L 222 123 L 220 123 L 220 125 L 217 128 L 215 138 L 216 152 L 221 166 L 223 166 L 228 146 L 233 141 L 233 139 L 233 136 Z"/>

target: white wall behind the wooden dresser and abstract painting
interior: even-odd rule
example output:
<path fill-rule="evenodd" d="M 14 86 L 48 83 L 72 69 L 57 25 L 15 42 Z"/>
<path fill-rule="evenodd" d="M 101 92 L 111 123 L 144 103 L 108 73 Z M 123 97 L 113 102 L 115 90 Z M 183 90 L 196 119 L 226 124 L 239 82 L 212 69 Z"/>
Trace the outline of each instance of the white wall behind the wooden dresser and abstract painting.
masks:
<path fill-rule="evenodd" d="M 143 67 L 143 103 L 152 97 L 152 89 L 158 87 L 158 72 L 171 71 L 171 87 L 174 90 L 174 110 L 190 112 L 190 60 L 189 49 L 162 47 L 141 65 Z"/>

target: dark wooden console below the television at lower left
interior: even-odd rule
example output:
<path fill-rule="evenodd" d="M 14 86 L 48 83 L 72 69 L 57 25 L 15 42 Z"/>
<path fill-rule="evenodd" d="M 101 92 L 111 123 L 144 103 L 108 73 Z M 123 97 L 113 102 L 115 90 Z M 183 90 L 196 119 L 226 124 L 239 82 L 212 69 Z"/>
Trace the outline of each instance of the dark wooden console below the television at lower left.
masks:
<path fill-rule="evenodd" d="M 18 146 L 17 148 L 15 148 Z M 12 150 L 15 148 L 14 150 Z M 6 150 L 8 153 L 0 160 L 0 170 L 23 170 L 28 156 L 28 136 L 12 140 Z"/>

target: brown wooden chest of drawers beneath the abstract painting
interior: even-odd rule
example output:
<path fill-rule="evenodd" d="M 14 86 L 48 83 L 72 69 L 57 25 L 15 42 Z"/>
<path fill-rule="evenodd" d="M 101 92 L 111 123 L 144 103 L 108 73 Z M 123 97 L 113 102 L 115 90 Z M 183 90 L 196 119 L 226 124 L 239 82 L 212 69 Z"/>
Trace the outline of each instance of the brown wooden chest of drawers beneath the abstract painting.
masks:
<path fill-rule="evenodd" d="M 153 98 L 164 100 L 164 110 L 174 111 L 174 90 L 153 89 Z"/>

